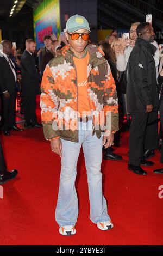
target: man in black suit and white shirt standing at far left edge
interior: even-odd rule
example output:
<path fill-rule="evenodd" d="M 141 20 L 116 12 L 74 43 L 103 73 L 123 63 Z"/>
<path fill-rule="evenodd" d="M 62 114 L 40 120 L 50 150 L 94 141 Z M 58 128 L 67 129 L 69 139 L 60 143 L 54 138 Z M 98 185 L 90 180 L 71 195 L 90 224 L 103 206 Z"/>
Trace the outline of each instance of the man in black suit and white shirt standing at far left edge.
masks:
<path fill-rule="evenodd" d="M 0 51 L 0 89 L 3 100 L 3 133 L 10 135 L 9 130 L 22 131 L 15 125 L 16 103 L 16 70 L 9 58 L 12 52 L 12 44 L 8 40 L 1 42 L 3 49 Z"/>

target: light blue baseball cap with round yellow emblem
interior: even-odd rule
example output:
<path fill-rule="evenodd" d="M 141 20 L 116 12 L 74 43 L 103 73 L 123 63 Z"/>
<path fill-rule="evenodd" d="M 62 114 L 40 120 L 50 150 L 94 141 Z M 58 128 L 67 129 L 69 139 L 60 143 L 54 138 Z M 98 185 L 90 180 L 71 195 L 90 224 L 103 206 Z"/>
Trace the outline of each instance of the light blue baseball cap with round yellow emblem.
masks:
<path fill-rule="evenodd" d="M 73 15 L 66 22 L 66 32 L 74 32 L 78 29 L 85 28 L 90 31 L 90 26 L 85 17 L 81 15 Z M 90 31 L 91 32 L 91 31 Z"/>

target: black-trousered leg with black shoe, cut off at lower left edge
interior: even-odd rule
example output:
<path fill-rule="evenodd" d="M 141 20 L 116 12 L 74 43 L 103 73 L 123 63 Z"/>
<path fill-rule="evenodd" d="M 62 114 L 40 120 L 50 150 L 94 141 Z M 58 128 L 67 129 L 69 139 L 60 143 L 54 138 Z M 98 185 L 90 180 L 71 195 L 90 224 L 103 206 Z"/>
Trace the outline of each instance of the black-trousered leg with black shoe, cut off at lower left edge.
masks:
<path fill-rule="evenodd" d="M 1 98 L 0 98 L 0 109 L 1 109 Z M 1 120 L 1 116 L 0 116 L 0 120 Z M 18 173 L 17 170 L 12 170 L 11 172 L 8 172 L 6 168 L 7 167 L 6 167 L 6 163 L 3 155 L 3 149 L 1 145 L 1 139 L 0 139 L 0 185 L 11 179 L 14 179 Z"/>

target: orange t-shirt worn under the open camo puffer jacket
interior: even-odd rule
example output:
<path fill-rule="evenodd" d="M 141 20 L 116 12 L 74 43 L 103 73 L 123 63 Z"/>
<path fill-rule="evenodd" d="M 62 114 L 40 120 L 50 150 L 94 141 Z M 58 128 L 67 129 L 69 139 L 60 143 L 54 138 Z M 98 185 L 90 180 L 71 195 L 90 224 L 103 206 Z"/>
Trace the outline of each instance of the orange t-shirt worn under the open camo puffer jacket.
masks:
<path fill-rule="evenodd" d="M 87 96 L 87 65 L 89 63 L 89 52 L 84 58 L 73 57 L 74 64 L 77 70 L 77 86 L 78 86 L 78 112 L 82 117 L 82 112 L 85 115 L 91 114 L 91 108 Z"/>

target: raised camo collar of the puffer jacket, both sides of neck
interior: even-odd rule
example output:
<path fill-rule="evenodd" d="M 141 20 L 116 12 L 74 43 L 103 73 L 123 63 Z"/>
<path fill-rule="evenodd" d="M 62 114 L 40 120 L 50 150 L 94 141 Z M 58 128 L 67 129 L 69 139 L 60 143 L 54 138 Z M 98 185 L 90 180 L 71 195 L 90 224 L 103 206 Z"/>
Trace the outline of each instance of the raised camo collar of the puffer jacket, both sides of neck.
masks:
<path fill-rule="evenodd" d="M 91 64 L 92 68 L 95 68 L 96 66 L 106 62 L 104 58 L 104 52 L 101 50 L 101 48 L 96 47 L 95 45 L 87 45 L 87 51 L 89 51 L 90 54 L 90 60 L 89 64 Z M 74 53 L 70 50 L 70 45 L 65 45 L 61 50 L 62 56 L 65 57 L 66 62 L 70 62 L 72 65 L 73 63 L 73 56 Z"/>

